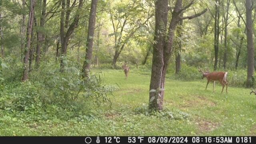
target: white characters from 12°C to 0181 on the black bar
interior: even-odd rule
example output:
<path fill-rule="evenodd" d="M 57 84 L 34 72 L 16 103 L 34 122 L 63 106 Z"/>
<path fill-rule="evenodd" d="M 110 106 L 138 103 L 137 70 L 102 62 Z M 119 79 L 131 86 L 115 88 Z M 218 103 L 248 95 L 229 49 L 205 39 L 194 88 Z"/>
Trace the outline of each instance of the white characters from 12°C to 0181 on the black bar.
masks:
<path fill-rule="evenodd" d="M 104 142 L 109 143 L 252 143 L 250 136 L 128 136 L 104 137 Z"/>

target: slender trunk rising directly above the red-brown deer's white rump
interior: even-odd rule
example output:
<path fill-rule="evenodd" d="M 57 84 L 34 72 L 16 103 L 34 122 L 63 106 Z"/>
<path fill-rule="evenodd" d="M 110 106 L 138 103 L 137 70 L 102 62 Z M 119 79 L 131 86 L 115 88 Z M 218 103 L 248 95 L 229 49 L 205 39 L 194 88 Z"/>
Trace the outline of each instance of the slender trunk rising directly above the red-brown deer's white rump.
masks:
<path fill-rule="evenodd" d="M 227 54 L 228 54 L 228 46 L 227 46 L 227 35 L 228 35 L 228 10 L 229 10 L 230 0 L 227 0 L 227 9 L 226 9 L 226 16 L 224 18 L 224 56 L 223 56 L 223 68 L 226 69 L 226 62 L 227 62 Z"/>

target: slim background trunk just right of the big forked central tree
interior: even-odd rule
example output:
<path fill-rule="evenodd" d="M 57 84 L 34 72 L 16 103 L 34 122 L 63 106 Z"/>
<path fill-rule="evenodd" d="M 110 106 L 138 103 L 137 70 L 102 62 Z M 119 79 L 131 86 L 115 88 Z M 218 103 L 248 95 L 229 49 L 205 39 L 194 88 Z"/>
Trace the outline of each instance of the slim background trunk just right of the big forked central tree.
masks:
<path fill-rule="evenodd" d="M 180 15 L 183 16 L 183 13 Z M 180 26 L 177 28 L 177 37 L 180 39 L 182 38 L 182 26 L 183 26 L 183 20 L 180 20 Z M 175 73 L 176 74 L 178 74 L 181 69 L 181 61 L 180 61 L 181 48 L 182 48 L 182 41 L 178 40 L 178 54 L 176 54 L 176 57 L 175 57 Z"/>

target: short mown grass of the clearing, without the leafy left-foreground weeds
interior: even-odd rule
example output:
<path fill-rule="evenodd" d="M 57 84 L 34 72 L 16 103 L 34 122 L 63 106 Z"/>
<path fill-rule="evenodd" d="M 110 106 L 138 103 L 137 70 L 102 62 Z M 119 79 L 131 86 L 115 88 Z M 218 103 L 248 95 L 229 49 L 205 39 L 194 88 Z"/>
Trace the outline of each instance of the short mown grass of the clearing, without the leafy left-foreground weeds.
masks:
<path fill-rule="evenodd" d="M 118 84 L 120 89 L 114 92 L 113 110 L 117 113 L 124 105 L 129 110 L 148 104 L 149 75 L 130 72 L 128 79 L 121 70 L 103 70 L 105 82 Z M 190 116 L 184 120 L 172 120 L 161 117 L 132 116 L 134 125 L 141 127 L 140 132 L 126 132 L 122 135 L 256 135 L 256 96 L 250 95 L 250 89 L 228 87 L 228 93 L 221 94 L 222 86 L 216 84 L 212 92 L 212 83 L 205 90 L 206 79 L 183 82 L 166 80 L 164 107 L 168 110 L 180 110 Z M 120 114 L 116 114 L 116 117 Z M 113 116 L 115 119 L 115 116 Z M 126 123 L 124 122 L 124 125 Z M 116 133 L 118 134 L 118 133 Z"/>

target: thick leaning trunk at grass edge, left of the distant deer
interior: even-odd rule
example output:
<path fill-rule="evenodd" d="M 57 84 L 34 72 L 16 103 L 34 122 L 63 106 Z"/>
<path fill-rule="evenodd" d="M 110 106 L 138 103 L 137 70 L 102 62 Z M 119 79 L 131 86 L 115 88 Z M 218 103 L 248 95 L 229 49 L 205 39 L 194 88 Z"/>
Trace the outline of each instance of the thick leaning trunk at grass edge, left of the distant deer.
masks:
<path fill-rule="evenodd" d="M 86 55 L 85 55 L 85 60 L 83 65 L 83 72 L 85 77 L 88 77 L 90 73 L 90 63 L 92 60 L 92 48 L 93 48 L 92 46 L 93 46 L 97 2 L 98 0 L 92 0 L 92 3 L 91 3 L 88 34 L 87 34 L 87 44 L 86 44 Z"/>

